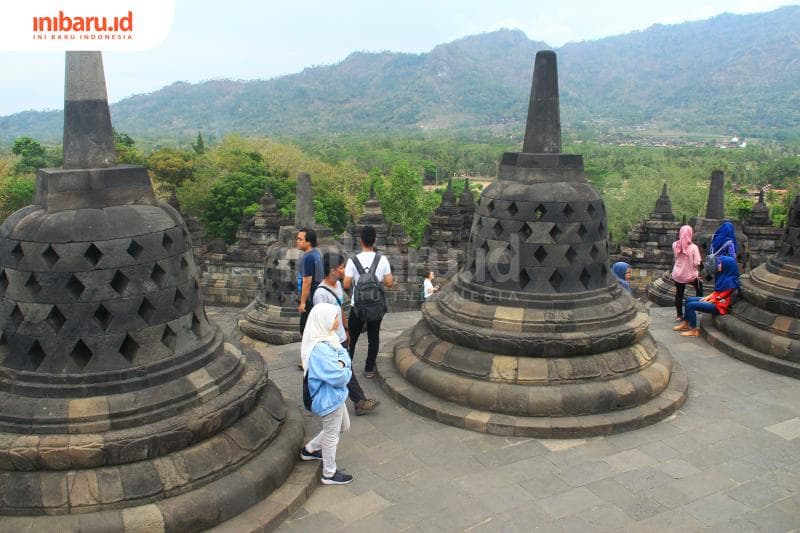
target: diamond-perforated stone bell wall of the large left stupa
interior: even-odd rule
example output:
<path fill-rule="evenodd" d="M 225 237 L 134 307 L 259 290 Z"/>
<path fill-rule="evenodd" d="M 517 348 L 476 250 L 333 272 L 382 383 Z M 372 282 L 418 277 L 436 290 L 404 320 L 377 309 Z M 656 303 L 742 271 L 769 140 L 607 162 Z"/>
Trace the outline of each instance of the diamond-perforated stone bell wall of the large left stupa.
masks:
<path fill-rule="evenodd" d="M 3 366 L 49 373 L 128 368 L 207 336 L 181 226 L 134 238 L 0 239 Z M 102 353 L 118 357 L 98 357 Z"/>

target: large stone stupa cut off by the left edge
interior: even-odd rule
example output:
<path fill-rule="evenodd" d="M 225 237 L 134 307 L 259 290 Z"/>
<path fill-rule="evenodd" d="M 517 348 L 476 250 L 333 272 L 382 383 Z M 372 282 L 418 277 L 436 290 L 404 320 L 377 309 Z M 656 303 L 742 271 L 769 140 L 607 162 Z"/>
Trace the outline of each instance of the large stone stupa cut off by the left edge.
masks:
<path fill-rule="evenodd" d="M 63 168 L 0 227 L 0 529 L 197 531 L 279 487 L 303 438 L 206 318 L 186 226 L 116 165 L 99 52 L 67 52 Z"/>

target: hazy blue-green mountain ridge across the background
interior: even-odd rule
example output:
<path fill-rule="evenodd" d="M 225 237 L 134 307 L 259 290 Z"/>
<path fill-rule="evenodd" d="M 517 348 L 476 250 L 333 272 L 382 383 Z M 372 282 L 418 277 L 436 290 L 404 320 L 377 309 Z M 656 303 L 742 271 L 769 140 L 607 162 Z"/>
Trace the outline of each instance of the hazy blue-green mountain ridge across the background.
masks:
<path fill-rule="evenodd" d="M 429 52 L 348 54 L 269 80 L 175 82 L 111 106 L 134 137 L 316 135 L 524 124 L 533 57 L 559 56 L 566 128 L 641 127 L 785 138 L 800 135 L 800 6 L 553 48 L 502 29 Z M 110 80 L 113 83 L 113 80 Z M 0 117 L 0 139 L 60 137 L 61 112 Z M 517 132 L 517 133 L 521 133 Z"/>

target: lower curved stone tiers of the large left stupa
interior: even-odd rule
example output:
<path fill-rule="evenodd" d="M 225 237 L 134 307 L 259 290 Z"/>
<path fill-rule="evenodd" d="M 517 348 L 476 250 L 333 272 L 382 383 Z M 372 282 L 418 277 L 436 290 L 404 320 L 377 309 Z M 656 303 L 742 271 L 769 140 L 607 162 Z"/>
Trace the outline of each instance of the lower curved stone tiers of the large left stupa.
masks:
<path fill-rule="evenodd" d="M 267 439 L 255 438 L 258 427 Z M 19 479 L 10 503 L 19 514 L 0 517 L 0 532 L 199 531 L 273 494 L 275 527 L 290 511 L 286 493 L 297 482 L 282 484 L 293 473 L 303 436 L 300 413 L 287 409 L 269 382 L 247 415 L 194 446 L 119 466 L 12 474 Z M 204 482 L 209 478 L 213 481 Z M 294 478 L 317 482 L 316 471 Z M 298 491 L 304 495 L 307 487 Z M 262 523 L 269 522 L 262 515 Z"/>

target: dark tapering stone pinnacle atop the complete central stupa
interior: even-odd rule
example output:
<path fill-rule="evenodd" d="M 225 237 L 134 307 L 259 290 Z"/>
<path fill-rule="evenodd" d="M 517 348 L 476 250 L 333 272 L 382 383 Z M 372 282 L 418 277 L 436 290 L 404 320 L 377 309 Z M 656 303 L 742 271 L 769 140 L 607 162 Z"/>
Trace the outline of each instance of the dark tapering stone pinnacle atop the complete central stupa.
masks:
<path fill-rule="evenodd" d="M 561 153 L 558 69 L 556 53 L 552 50 L 536 53 L 522 151 L 532 154 Z"/>

